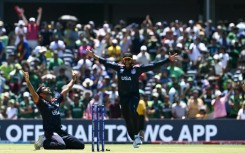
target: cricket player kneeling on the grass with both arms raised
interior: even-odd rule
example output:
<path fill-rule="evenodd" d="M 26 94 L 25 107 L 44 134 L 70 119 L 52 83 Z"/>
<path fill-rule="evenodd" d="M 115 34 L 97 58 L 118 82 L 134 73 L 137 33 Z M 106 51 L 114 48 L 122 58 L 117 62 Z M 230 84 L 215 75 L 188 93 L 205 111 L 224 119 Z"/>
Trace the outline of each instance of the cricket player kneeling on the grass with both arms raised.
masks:
<path fill-rule="evenodd" d="M 77 80 L 77 74 L 72 72 L 72 80 L 55 97 L 51 97 L 52 91 L 49 87 L 41 86 L 35 91 L 29 80 L 28 72 L 24 72 L 24 77 L 43 119 L 44 136 L 39 136 L 38 141 L 34 144 L 35 149 L 39 150 L 41 147 L 44 149 L 84 149 L 82 141 L 61 129 L 59 112 L 60 103 Z"/>

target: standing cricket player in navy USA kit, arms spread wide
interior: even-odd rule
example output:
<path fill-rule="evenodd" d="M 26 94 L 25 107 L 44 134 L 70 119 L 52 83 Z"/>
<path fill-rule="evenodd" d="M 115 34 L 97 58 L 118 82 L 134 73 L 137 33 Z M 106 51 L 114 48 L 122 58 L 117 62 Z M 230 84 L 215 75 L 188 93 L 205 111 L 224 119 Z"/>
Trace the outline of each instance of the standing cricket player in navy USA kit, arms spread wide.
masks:
<path fill-rule="evenodd" d="M 120 105 L 123 118 L 126 121 L 128 134 L 133 142 L 134 148 L 138 148 L 142 144 L 140 137 L 140 127 L 138 126 L 137 106 L 139 103 L 139 76 L 146 71 L 159 68 L 160 66 L 173 62 L 177 59 L 177 54 L 169 55 L 166 60 L 161 60 L 148 65 L 134 65 L 131 53 L 125 53 L 121 63 L 107 61 L 98 57 L 91 50 L 87 50 L 88 55 L 99 60 L 105 67 L 117 71 L 118 75 L 118 93 L 120 97 Z"/>

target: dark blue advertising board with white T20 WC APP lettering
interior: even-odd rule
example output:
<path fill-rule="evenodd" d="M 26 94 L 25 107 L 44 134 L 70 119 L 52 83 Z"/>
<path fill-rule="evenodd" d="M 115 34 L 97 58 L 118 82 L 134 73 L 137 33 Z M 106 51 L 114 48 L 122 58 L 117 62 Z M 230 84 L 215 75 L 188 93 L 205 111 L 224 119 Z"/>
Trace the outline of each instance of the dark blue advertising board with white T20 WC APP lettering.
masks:
<path fill-rule="evenodd" d="M 91 120 L 63 120 L 68 133 L 91 142 Z M 151 120 L 145 126 L 145 142 L 198 142 L 245 140 L 242 120 Z M 43 134 L 41 120 L 1 120 L 0 141 L 30 143 Z M 125 143 L 130 138 L 123 120 L 105 121 L 105 142 Z"/>

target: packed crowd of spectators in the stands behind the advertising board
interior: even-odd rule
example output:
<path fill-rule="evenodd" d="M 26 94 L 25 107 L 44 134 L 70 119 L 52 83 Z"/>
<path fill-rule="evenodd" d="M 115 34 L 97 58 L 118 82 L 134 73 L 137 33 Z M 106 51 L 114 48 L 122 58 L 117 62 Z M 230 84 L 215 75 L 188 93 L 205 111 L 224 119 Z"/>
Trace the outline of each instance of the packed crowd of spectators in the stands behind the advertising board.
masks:
<path fill-rule="evenodd" d="M 89 58 L 86 49 L 91 48 L 115 62 L 131 52 L 138 64 L 178 53 L 176 62 L 139 78 L 147 119 L 236 119 L 238 112 L 245 118 L 243 20 L 153 22 L 147 15 L 140 24 L 96 25 L 41 22 L 42 8 L 37 12 L 37 18 L 27 20 L 19 8 L 12 31 L 0 21 L 0 119 L 40 118 L 21 69 L 29 72 L 35 89 L 45 84 L 55 92 L 69 82 L 71 70 L 79 72 L 61 106 L 62 118 L 91 119 L 95 102 L 106 106 L 107 118 L 121 118 L 115 72 Z"/>

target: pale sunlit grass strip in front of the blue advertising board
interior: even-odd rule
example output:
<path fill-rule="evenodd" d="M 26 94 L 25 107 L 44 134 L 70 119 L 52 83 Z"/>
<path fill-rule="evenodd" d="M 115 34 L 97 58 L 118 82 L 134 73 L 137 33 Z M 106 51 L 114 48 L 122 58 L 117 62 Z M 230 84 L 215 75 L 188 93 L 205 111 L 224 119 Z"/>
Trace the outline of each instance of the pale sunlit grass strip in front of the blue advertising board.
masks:
<path fill-rule="evenodd" d="M 200 145 L 200 144 L 143 144 L 133 148 L 129 144 L 108 144 L 105 149 L 112 153 L 245 153 L 245 145 Z M 82 153 L 92 152 L 91 145 L 84 150 L 34 150 L 31 144 L 0 144 L 0 153 Z"/>

